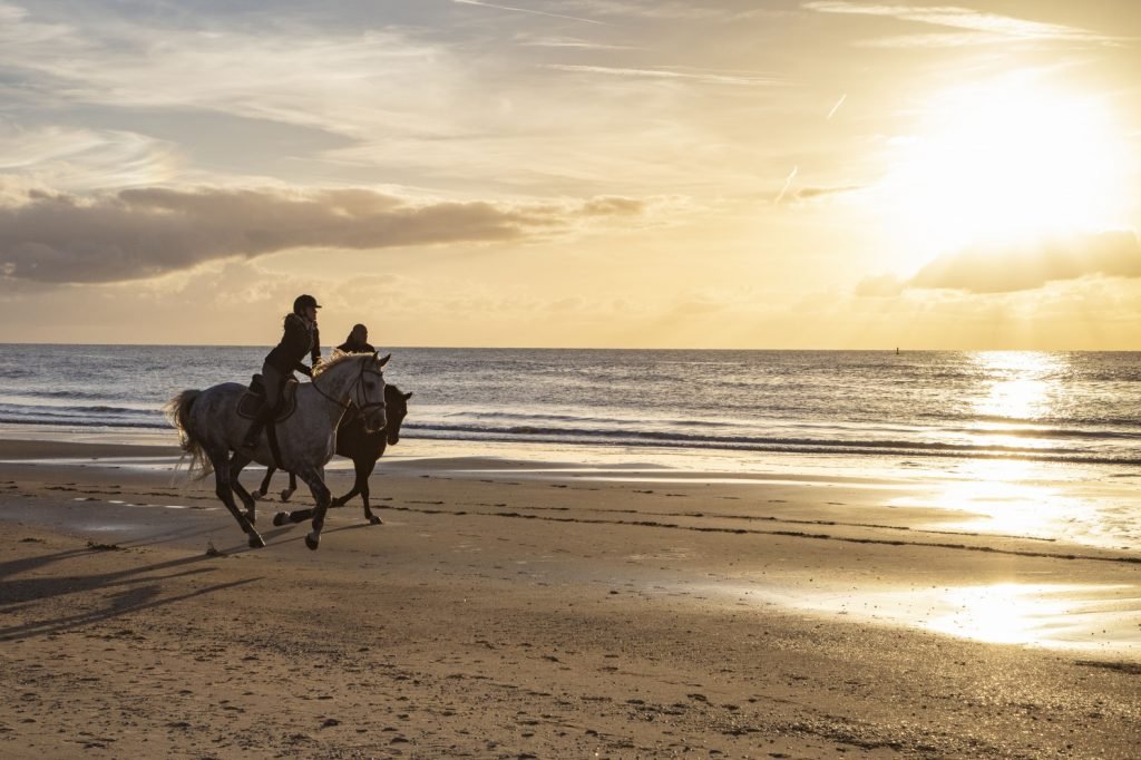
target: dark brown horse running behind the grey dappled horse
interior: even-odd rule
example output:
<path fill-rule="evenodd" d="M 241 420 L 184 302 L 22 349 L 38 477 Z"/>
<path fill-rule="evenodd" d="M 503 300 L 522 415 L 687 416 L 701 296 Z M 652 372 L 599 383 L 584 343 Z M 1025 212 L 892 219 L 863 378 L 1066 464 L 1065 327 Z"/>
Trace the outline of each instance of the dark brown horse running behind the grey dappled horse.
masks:
<path fill-rule="evenodd" d="M 412 398 L 411 393 L 402 393 L 396 386 L 385 387 L 388 425 L 383 430 L 375 432 L 365 430 L 364 422 L 355 413 L 355 410 L 349 410 L 341 420 L 340 427 L 337 428 L 337 453 L 353 460 L 353 467 L 356 469 L 356 483 L 353 484 L 353 490 L 347 494 L 333 499 L 329 504 L 330 507 L 343 507 L 348 503 L 349 499 L 361 494 L 361 501 L 364 502 L 365 519 L 372 525 L 380 525 L 380 518 L 372 514 L 372 508 L 369 506 L 369 476 L 372 475 L 373 469 L 377 467 L 377 460 L 381 458 L 385 450 L 400 442 L 400 425 L 404 423 L 404 418 L 408 413 L 410 398 Z M 261 486 L 258 491 L 253 492 L 256 498 L 260 499 L 269 491 L 269 479 L 276 471 L 273 467 L 266 470 L 266 477 L 262 478 Z M 289 500 L 293 491 L 297 490 L 297 476 L 292 472 L 289 474 L 289 486 L 288 490 L 282 491 L 282 501 Z M 277 512 L 274 515 L 274 525 L 300 523 L 309 519 L 311 512 L 311 509 Z"/>

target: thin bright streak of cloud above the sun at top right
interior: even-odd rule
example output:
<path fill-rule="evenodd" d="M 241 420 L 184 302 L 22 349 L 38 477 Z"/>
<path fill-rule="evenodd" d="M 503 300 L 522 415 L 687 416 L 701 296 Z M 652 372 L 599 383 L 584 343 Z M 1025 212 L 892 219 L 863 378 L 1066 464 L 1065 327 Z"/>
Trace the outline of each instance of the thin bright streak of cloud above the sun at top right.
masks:
<path fill-rule="evenodd" d="M 1107 37 L 1077 26 L 1028 21 L 956 6 L 897 6 L 848 2 L 845 0 L 819 0 L 816 2 L 806 2 L 801 7 L 806 10 L 824 14 L 880 16 L 917 24 L 965 29 L 972 32 L 1001 37 L 1006 40 L 1055 40 L 1100 43 L 1118 41 L 1117 38 Z M 920 46 L 930 46 L 932 43 L 970 45 L 981 40 L 981 38 L 971 39 L 963 35 L 954 35 L 954 38 L 932 41 L 930 35 L 913 35 L 911 38 L 896 39 L 895 42 L 897 45 L 901 43 L 900 39 L 911 40 L 912 43 Z"/>

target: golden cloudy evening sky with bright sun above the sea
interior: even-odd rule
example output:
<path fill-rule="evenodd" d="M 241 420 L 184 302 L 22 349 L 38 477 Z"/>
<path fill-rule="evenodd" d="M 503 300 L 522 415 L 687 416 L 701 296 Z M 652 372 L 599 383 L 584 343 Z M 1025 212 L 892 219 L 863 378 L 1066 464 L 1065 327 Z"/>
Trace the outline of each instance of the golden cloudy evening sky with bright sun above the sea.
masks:
<path fill-rule="evenodd" d="M 0 0 L 0 342 L 1141 349 L 1134 0 Z"/>

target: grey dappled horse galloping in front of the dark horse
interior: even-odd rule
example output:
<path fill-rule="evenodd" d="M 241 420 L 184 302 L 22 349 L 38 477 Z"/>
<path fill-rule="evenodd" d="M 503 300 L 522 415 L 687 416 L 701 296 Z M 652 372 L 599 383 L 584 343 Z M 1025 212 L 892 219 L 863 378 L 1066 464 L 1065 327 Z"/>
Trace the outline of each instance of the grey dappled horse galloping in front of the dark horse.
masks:
<path fill-rule="evenodd" d="M 382 369 L 390 356 L 377 354 L 342 354 L 313 372 L 313 382 L 297 388 L 297 409 L 285 420 L 276 422 L 281 464 L 297 472 L 313 492 L 316 508 L 313 531 L 305 536 L 305 544 L 316 549 L 321 528 L 325 524 L 331 494 L 325 487 L 324 468 L 337 445 L 337 426 L 341 417 L 356 405 L 365 429 L 381 430 L 387 425 L 385 413 L 385 375 Z M 258 439 L 250 456 L 238 451 L 250 420 L 238 417 L 237 405 L 246 388 L 236 382 L 224 382 L 205 390 L 184 390 L 167 405 L 171 421 L 179 431 L 183 451 L 191 455 L 191 470 L 201 468 L 203 476 L 215 471 L 215 493 L 226 504 L 234 519 L 250 537 L 250 545 L 260 548 L 265 541 L 253 527 L 257 519 L 254 500 L 237 482 L 237 476 L 250 461 L 274 467 L 269 451 L 268 426 Z M 235 452 L 233 459 L 229 453 Z M 237 493 L 245 506 L 243 515 L 234 503 Z"/>

